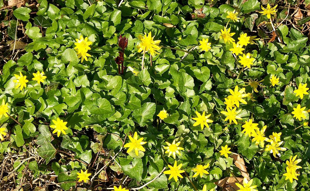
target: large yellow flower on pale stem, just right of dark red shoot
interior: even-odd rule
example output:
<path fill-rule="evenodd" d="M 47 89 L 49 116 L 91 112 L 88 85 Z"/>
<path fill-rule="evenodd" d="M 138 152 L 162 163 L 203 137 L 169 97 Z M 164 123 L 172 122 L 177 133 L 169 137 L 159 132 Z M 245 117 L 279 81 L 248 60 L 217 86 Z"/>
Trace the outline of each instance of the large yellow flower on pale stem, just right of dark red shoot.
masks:
<path fill-rule="evenodd" d="M 138 52 L 150 51 L 152 56 L 154 56 L 155 54 L 159 54 L 156 51 L 161 49 L 161 47 L 158 46 L 161 40 L 154 41 L 154 37 L 152 37 L 151 31 L 148 33 L 148 36 L 146 36 L 145 33 L 144 36 L 140 35 L 138 38 L 141 41 L 140 44 L 137 46 L 137 48 L 139 49 Z"/>

